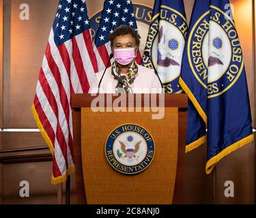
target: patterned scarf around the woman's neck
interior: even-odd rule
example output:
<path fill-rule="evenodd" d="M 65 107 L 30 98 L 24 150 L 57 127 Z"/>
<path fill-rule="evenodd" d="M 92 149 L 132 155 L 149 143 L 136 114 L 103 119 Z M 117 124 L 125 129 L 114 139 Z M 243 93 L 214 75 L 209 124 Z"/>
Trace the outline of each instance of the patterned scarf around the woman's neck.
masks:
<path fill-rule="evenodd" d="M 120 74 L 117 62 L 114 61 L 111 74 L 114 76 L 114 79 L 118 81 L 117 86 L 115 87 L 115 93 L 132 93 L 130 85 L 138 76 L 138 66 L 134 60 L 132 61 L 132 65 L 130 65 L 130 68 L 125 76 Z"/>

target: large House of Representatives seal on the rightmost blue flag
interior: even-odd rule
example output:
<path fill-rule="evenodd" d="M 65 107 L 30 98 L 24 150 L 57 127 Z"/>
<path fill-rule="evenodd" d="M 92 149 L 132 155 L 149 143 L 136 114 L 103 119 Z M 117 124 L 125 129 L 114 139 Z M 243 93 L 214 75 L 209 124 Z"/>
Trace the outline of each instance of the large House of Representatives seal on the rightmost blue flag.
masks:
<path fill-rule="evenodd" d="M 242 73 L 235 23 L 218 7 L 211 5 L 211 12 L 195 23 L 188 37 L 188 60 L 195 78 L 208 90 L 208 98 L 225 93 Z"/>

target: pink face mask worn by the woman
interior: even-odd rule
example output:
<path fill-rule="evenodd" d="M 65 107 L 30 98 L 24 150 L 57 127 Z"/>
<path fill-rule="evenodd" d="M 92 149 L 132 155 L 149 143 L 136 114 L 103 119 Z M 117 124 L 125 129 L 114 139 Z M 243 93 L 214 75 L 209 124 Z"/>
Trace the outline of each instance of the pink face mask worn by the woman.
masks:
<path fill-rule="evenodd" d="M 114 59 L 121 65 L 128 65 L 135 57 L 134 48 L 114 49 Z"/>

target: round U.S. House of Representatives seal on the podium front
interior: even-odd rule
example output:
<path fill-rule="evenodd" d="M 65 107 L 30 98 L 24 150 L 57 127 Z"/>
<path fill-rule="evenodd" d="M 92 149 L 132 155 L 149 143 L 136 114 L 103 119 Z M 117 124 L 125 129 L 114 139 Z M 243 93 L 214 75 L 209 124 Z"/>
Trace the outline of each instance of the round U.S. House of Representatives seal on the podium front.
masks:
<path fill-rule="evenodd" d="M 105 153 L 115 170 L 124 174 L 137 174 L 152 163 L 154 140 L 149 131 L 139 125 L 121 125 L 106 139 Z"/>

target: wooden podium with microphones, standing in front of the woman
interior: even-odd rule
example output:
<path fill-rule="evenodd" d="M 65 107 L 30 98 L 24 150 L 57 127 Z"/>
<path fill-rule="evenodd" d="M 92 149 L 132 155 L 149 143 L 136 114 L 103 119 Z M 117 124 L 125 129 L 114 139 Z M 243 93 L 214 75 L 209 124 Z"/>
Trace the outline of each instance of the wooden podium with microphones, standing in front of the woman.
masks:
<path fill-rule="evenodd" d="M 101 100 L 94 105 L 96 98 Z M 111 108 L 117 100 L 119 112 Z M 162 119 L 152 119 L 156 111 L 147 104 L 153 100 L 153 108 L 164 109 Z M 141 101 L 141 110 L 132 112 L 131 101 L 134 106 Z M 72 95 L 78 204 L 182 204 L 187 101 L 186 94 Z M 95 112 L 99 107 L 102 112 Z M 154 138 L 154 159 L 138 174 L 122 174 L 106 158 L 106 139 L 126 124 L 139 125 Z"/>

